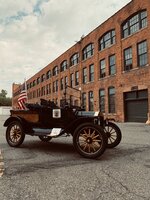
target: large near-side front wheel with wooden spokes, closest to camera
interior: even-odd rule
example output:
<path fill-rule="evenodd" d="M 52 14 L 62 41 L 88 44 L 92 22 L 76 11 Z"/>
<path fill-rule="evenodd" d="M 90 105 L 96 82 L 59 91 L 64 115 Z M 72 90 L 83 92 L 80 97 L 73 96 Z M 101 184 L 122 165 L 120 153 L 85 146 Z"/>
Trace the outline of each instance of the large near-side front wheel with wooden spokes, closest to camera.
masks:
<path fill-rule="evenodd" d="M 74 131 L 73 144 L 80 155 L 93 159 L 104 153 L 107 147 L 107 136 L 100 126 L 83 123 Z"/>

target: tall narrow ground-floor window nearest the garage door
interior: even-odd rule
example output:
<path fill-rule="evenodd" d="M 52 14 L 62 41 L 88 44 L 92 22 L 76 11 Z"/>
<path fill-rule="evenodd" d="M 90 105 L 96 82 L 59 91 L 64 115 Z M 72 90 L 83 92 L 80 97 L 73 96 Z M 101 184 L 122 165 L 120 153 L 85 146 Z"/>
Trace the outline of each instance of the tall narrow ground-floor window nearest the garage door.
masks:
<path fill-rule="evenodd" d="M 108 88 L 108 111 L 109 113 L 115 113 L 115 88 Z"/>

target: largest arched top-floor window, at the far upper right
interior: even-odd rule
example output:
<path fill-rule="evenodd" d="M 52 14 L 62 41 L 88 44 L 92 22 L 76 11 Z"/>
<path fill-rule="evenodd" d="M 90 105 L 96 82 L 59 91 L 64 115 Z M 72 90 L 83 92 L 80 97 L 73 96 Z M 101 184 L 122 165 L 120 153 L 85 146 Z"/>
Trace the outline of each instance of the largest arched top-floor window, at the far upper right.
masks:
<path fill-rule="evenodd" d="M 147 11 L 140 11 L 122 25 L 122 37 L 126 38 L 147 26 Z"/>

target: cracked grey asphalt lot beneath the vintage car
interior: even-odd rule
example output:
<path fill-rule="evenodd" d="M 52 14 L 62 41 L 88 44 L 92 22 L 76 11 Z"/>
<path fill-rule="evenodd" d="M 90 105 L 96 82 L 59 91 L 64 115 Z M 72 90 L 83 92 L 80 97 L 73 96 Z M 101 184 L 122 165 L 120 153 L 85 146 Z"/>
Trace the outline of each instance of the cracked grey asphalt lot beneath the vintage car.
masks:
<path fill-rule="evenodd" d="M 27 136 L 11 148 L 0 119 L 0 200 L 150 200 L 150 126 L 118 123 L 120 145 L 89 160 L 74 150 L 71 137 L 43 143 Z"/>

